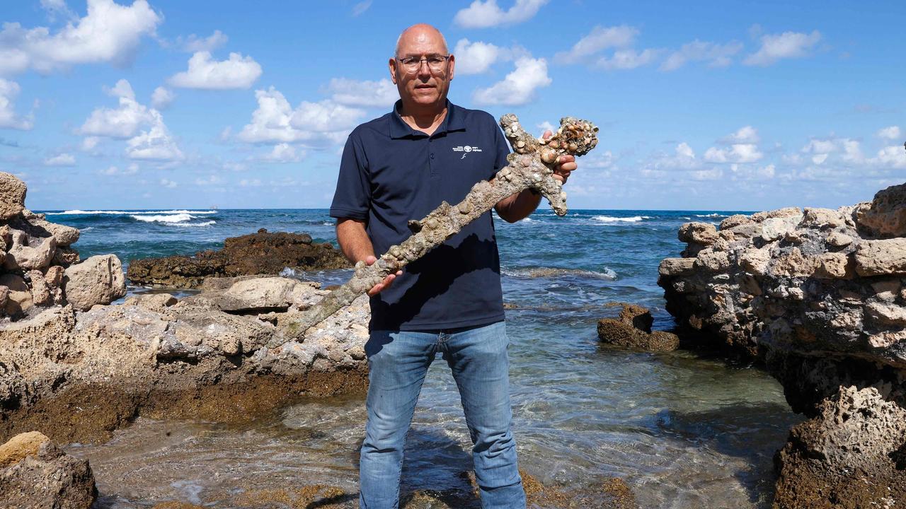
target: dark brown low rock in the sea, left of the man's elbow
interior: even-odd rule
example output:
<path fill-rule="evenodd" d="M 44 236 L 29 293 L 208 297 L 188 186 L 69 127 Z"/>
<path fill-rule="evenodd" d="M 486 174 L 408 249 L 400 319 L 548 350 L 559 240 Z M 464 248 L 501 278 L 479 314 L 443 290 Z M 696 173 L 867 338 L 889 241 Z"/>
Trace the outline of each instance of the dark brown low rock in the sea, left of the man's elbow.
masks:
<path fill-rule="evenodd" d="M 312 235 L 268 232 L 229 237 L 219 251 L 194 256 L 132 260 L 127 277 L 132 284 L 198 288 L 207 277 L 280 274 L 286 267 L 315 271 L 352 266 L 330 243 L 314 243 Z"/>

